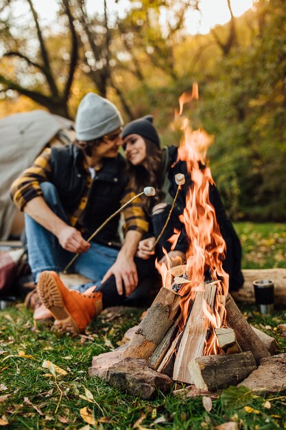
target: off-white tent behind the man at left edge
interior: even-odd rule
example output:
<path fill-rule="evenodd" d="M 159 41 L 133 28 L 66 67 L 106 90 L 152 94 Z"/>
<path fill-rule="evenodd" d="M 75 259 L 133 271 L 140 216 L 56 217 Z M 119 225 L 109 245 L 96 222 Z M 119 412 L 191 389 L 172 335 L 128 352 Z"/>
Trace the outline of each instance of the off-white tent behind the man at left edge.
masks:
<path fill-rule="evenodd" d="M 70 120 L 40 110 L 0 120 L 0 240 L 8 238 L 14 218 L 10 185 L 53 137 L 72 126 Z M 69 139 L 67 133 L 66 137 Z"/>

